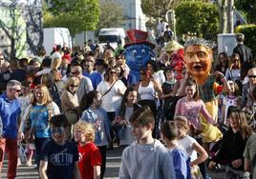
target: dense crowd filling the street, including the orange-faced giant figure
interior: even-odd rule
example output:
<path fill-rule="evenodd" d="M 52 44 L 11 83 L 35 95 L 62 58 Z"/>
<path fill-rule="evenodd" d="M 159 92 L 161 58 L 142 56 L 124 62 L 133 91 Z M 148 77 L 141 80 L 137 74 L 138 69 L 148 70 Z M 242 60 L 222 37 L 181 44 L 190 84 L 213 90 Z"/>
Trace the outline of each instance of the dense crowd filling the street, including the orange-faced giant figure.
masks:
<path fill-rule="evenodd" d="M 40 178 L 103 178 L 116 147 L 124 149 L 121 179 L 207 179 L 206 168 L 219 164 L 226 179 L 256 178 L 255 60 L 243 34 L 237 41 L 212 69 L 209 46 L 187 42 L 179 79 L 162 51 L 139 70 L 139 82 L 124 49 L 101 51 L 92 41 L 56 46 L 50 56 L 40 49 L 32 59 L 0 54 L 0 173 L 8 152 L 9 179 L 18 166 L 32 166 L 33 155 Z"/>

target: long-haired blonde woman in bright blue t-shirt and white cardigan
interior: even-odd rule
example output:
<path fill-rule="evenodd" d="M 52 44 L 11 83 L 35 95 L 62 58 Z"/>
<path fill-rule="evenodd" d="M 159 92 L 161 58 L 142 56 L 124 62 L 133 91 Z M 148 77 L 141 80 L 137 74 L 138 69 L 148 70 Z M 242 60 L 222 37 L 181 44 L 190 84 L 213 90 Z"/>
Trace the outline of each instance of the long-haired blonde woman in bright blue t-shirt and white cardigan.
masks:
<path fill-rule="evenodd" d="M 36 151 L 36 165 L 39 166 L 39 153 L 43 146 L 51 138 L 51 129 L 49 121 L 51 117 L 59 114 L 57 105 L 53 102 L 50 92 L 45 85 L 35 87 L 32 94 L 30 107 L 25 111 L 26 118 L 21 122 L 19 131 L 24 136 L 25 128 L 29 128 L 26 124 L 30 124 L 30 135 L 34 137 L 34 145 Z M 31 138 L 28 136 L 28 138 Z"/>

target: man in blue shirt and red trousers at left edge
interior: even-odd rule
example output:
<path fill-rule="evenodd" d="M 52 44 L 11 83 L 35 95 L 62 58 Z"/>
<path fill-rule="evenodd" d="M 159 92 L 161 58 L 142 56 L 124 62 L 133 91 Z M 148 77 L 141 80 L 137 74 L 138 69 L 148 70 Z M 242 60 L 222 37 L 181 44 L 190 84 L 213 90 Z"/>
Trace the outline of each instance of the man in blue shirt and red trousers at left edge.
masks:
<path fill-rule="evenodd" d="M 0 174 L 4 162 L 5 151 L 8 155 L 8 179 L 14 179 L 17 168 L 17 124 L 21 113 L 17 100 L 21 84 L 11 80 L 7 90 L 0 96 Z M 0 175 L 1 178 L 1 175 Z"/>

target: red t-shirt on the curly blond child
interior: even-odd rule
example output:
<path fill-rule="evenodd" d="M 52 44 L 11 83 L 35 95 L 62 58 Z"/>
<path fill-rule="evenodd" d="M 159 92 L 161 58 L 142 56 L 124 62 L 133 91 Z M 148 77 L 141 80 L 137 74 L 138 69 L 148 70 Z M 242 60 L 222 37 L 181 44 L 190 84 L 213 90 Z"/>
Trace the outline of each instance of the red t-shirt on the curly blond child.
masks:
<path fill-rule="evenodd" d="M 91 142 L 85 146 L 78 145 L 79 170 L 81 179 L 94 179 L 94 166 L 101 166 L 101 154 Z"/>

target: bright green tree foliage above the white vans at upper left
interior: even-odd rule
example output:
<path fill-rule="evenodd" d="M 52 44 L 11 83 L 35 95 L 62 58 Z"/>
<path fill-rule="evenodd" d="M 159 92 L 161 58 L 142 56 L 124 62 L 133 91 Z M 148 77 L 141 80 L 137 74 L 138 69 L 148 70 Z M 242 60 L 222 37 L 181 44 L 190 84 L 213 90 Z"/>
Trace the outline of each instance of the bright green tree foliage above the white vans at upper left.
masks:
<path fill-rule="evenodd" d="M 52 0 L 44 12 L 44 27 L 68 28 L 72 36 L 83 30 L 96 30 L 98 22 L 98 0 Z"/>

